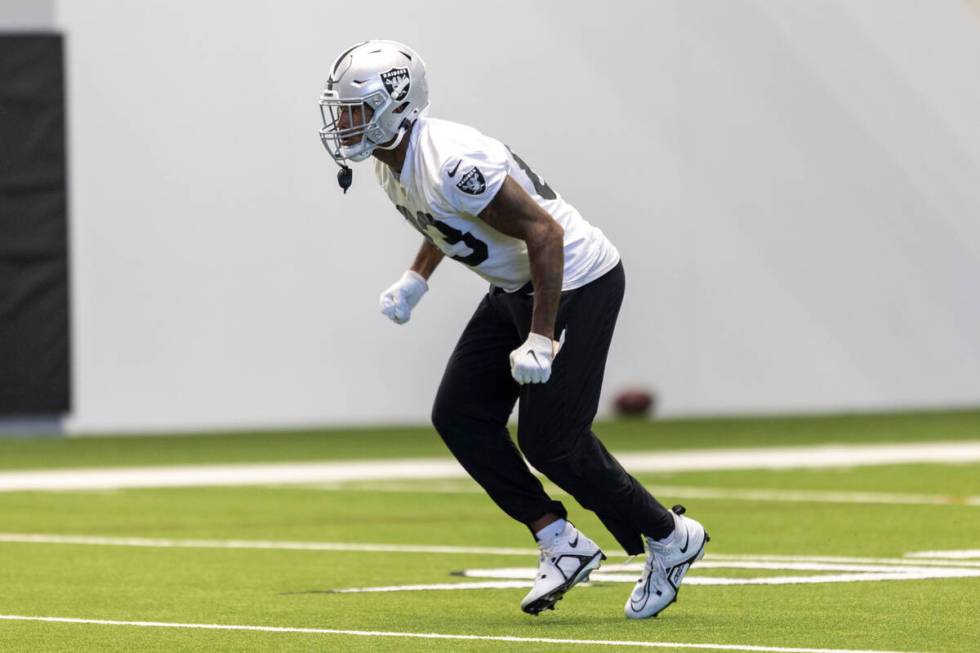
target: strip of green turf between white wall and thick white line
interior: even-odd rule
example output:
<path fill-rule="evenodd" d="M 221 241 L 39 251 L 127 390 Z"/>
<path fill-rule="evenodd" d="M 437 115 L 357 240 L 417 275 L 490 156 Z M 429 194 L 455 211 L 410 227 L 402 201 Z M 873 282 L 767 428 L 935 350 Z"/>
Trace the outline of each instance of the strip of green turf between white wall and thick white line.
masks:
<path fill-rule="evenodd" d="M 928 442 L 980 438 L 980 409 L 893 414 L 621 420 L 596 425 L 610 449 Z M 443 456 L 429 427 L 155 437 L 0 439 L 0 469 Z"/>

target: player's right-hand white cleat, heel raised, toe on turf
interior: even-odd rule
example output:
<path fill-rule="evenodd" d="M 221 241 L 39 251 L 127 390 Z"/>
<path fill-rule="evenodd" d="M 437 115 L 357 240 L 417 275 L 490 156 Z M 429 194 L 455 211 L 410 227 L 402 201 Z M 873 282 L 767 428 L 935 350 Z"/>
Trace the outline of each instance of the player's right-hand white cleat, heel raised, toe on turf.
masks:
<path fill-rule="evenodd" d="M 687 570 L 704 557 L 704 545 L 711 540 L 704 526 L 682 516 L 684 506 L 674 506 L 671 513 L 674 533 L 670 542 L 661 544 L 646 538 L 649 554 L 643 575 L 626 601 L 626 616 L 630 619 L 656 617 L 676 601 Z"/>

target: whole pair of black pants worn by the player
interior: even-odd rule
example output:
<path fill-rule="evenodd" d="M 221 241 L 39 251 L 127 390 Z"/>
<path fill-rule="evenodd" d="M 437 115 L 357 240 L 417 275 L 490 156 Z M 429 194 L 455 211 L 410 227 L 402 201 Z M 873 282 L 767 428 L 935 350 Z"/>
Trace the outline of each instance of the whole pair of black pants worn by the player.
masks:
<path fill-rule="evenodd" d="M 665 537 L 674 521 L 592 432 L 624 288 L 620 264 L 563 292 L 555 333 L 565 330 L 565 344 L 551 379 L 524 386 L 510 374 L 509 355 L 527 338 L 534 297 L 529 287 L 516 293 L 491 288 L 449 358 L 432 422 L 456 459 L 508 515 L 524 524 L 549 512 L 565 517 L 565 507 L 545 493 L 507 431 L 520 398 L 517 441 L 527 460 L 594 511 L 632 555 L 643 551 L 641 534 Z"/>

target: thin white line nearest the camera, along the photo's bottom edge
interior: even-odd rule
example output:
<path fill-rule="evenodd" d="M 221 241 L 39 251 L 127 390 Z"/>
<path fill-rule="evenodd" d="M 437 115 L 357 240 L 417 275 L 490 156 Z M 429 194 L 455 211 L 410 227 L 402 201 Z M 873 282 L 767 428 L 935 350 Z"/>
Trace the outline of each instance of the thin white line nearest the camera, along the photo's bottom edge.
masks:
<path fill-rule="evenodd" d="M 265 633 L 299 633 L 308 635 L 348 635 L 352 637 L 401 637 L 409 639 L 441 639 L 455 641 L 516 642 L 522 644 L 567 644 L 578 646 L 632 646 L 637 648 L 684 648 L 702 651 L 748 651 L 752 653 L 900 653 L 870 649 L 804 648 L 760 646 L 748 644 L 690 644 L 686 642 L 643 642 L 604 639 L 558 639 L 552 637 L 513 637 L 507 635 L 456 635 L 449 633 L 412 633 L 380 630 L 342 630 L 336 628 L 285 628 L 279 626 L 241 626 L 231 624 L 173 623 L 168 621 L 119 621 L 114 619 L 75 619 L 70 617 L 33 617 L 2 614 L 0 620 L 32 621 L 99 626 L 129 626 L 134 628 L 183 628 L 191 630 L 231 630 Z"/>

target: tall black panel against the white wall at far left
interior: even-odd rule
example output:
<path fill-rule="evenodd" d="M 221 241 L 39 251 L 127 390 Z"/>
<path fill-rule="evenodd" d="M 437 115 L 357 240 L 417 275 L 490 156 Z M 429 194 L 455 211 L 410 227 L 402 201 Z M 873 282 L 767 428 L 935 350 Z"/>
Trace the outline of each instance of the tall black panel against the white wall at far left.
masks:
<path fill-rule="evenodd" d="M 70 409 L 62 39 L 0 34 L 0 415 Z"/>

